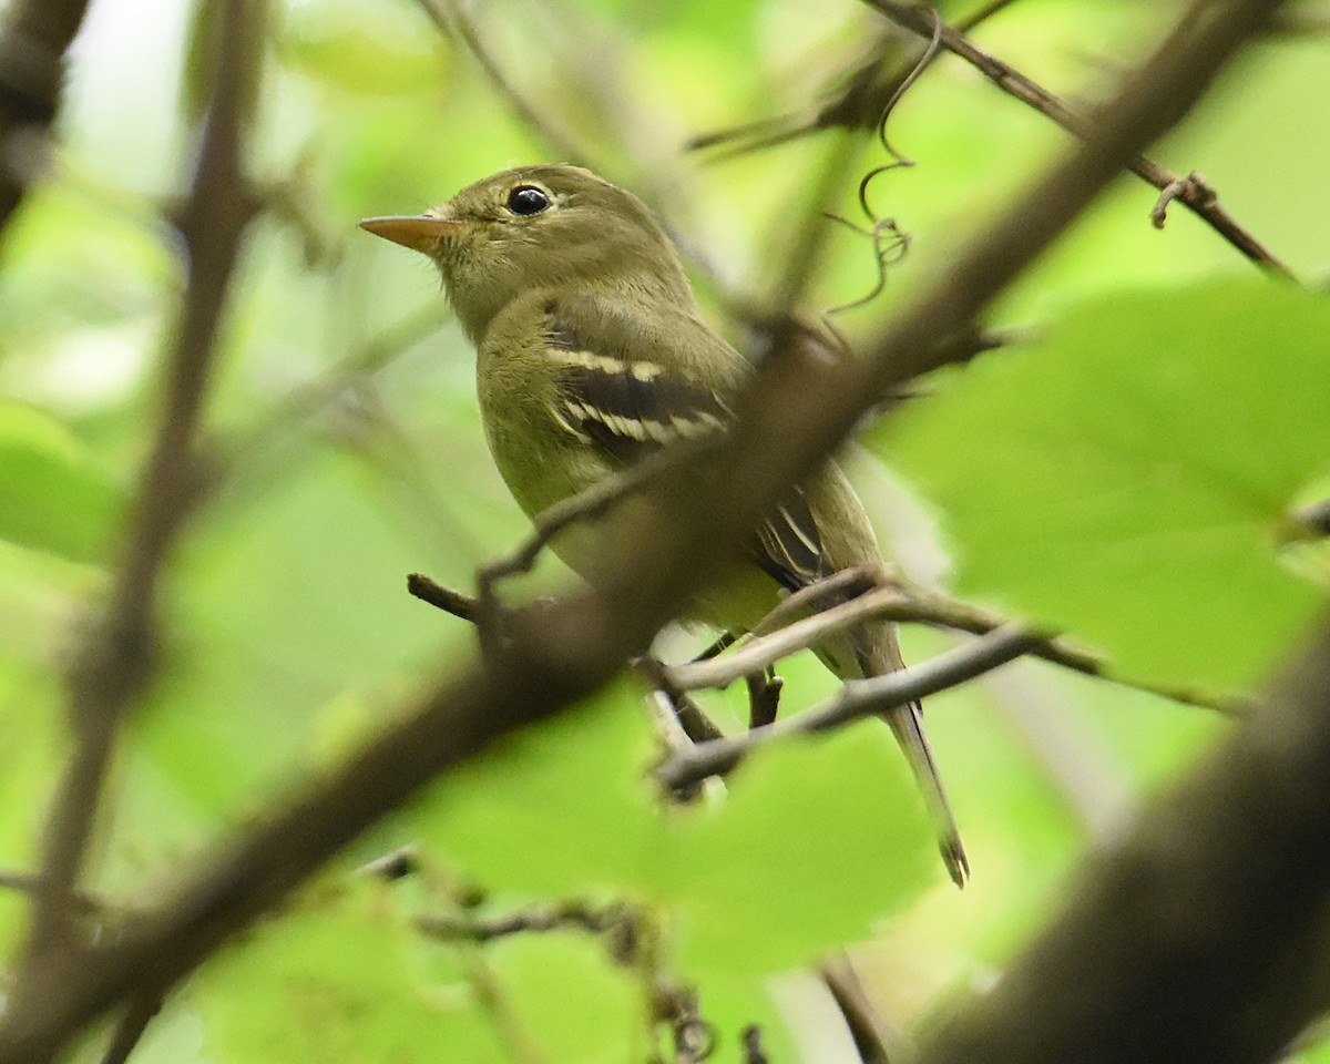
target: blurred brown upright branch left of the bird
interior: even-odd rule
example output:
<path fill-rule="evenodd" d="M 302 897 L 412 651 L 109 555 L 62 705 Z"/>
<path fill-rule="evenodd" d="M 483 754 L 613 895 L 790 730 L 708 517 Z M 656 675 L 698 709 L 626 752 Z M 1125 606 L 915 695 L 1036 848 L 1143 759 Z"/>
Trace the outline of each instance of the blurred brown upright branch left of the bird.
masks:
<path fill-rule="evenodd" d="M 231 270 L 253 217 L 242 173 L 243 101 L 254 90 L 262 41 L 255 0 L 227 0 L 221 66 L 194 182 L 180 219 L 189 279 L 152 452 L 129 515 L 110 600 L 84 640 L 69 678 L 76 751 L 44 838 L 43 879 L 27 946 L 32 966 L 70 944 L 68 906 L 97 817 L 114 738 L 153 669 L 161 572 L 196 497 L 194 439 L 210 379 Z M 20 982 L 19 995 L 27 983 Z"/>

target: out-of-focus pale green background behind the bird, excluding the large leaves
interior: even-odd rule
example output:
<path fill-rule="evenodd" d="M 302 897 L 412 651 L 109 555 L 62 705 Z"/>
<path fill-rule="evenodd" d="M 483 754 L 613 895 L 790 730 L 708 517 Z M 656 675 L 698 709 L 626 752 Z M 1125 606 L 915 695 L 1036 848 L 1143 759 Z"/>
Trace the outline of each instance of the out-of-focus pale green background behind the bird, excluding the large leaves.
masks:
<path fill-rule="evenodd" d="M 69 750 L 64 666 L 105 592 L 156 424 L 182 290 L 169 218 L 210 90 L 214 8 L 92 5 L 69 55 L 49 169 L 0 234 L 0 867 L 36 863 Z M 1201 170 L 1234 217 L 1318 286 L 1330 278 L 1330 8 L 1291 11 L 1152 154 L 1180 174 Z M 943 7 L 948 19 L 966 12 Z M 1144 0 L 1020 0 L 975 39 L 1089 109 L 1174 15 Z M 222 833 L 468 653 L 472 632 L 408 597 L 404 576 L 469 588 L 477 564 L 525 528 L 489 463 L 472 355 L 432 267 L 356 219 L 416 213 L 509 165 L 576 158 L 661 214 L 713 321 L 742 346 L 751 339 L 742 309 L 763 306 L 778 283 L 825 161 L 843 145 L 835 133 L 749 153 L 689 150 L 689 141 L 809 116 L 872 49 L 910 47 L 849 0 L 286 0 L 267 4 L 266 17 L 245 162 L 262 213 L 234 275 L 205 420 L 215 483 L 170 563 L 157 673 L 118 749 L 88 879 L 125 903 L 156 896 Z M 874 130 L 855 136 L 839 210 L 858 221 L 859 176 L 891 157 Z M 878 178 L 870 197 L 908 234 L 908 253 L 876 298 L 837 317 L 851 338 L 944 273 L 982 219 L 1069 144 L 948 56 L 899 102 L 887 136 L 915 165 Z M 1039 335 L 1099 295 L 1253 274 L 1181 209 L 1153 229 L 1154 197 L 1124 177 L 988 326 Z M 806 311 L 853 302 L 875 278 L 868 242 L 835 227 Z M 947 585 L 944 515 L 866 451 L 847 462 L 906 573 Z M 547 561 L 528 589 L 561 580 Z M 678 654 L 702 641 L 676 634 L 669 646 Z M 903 641 L 911 661 L 952 642 L 919 626 Z M 833 690 L 811 658 L 782 674 L 791 712 Z M 614 697 L 625 714 L 640 700 L 632 689 Z M 737 693 L 708 705 L 732 726 L 742 713 Z M 956 988 L 982 988 L 1056 906 L 1076 859 L 1226 730 L 1212 710 L 1031 662 L 930 700 L 928 721 L 975 879 L 964 892 L 928 879 L 853 951 L 902 1040 L 946 1016 Z M 495 817 L 493 830 L 508 830 Z M 390 825 L 330 879 L 418 830 L 411 817 Z M 528 843 L 511 839 L 519 855 Z M 450 867 L 446 853 L 434 857 Z M 826 867 L 855 874 L 849 854 L 845 867 Z M 597 947 L 573 939 L 488 960 L 440 950 L 424 962 L 403 916 L 432 903 L 420 894 L 343 899 L 354 919 L 340 924 L 306 899 L 286 939 L 227 954 L 136 1059 L 468 1059 L 443 1051 L 454 1035 L 431 1027 L 420 1044 L 403 1031 L 415 1032 L 420 1013 L 471 1016 L 481 963 L 549 1055 L 495 1040 L 480 1009 L 466 1037 L 485 1048 L 469 1059 L 624 1059 L 613 1039 L 559 1033 L 560 1024 L 600 1029 L 587 1016 L 606 1001 L 629 1008 L 625 980 L 591 959 Z M 11 954 L 25 915 L 21 891 L 0 891 Z M 384 962 L 403 942 L 415 959 Z M 579 966 L 597 964 L 585 979 L 598 990 L 581 1000 Z M 572 988 L 560 1008 L 548 1000 L 555 984 Z M 853 1059 L 814 980 L 763 987 L 789 1028 L 773 1039 L 801 1044 L 809 1060 Z M 733 1052 L 722 1045 L 717 1059 Z"/>

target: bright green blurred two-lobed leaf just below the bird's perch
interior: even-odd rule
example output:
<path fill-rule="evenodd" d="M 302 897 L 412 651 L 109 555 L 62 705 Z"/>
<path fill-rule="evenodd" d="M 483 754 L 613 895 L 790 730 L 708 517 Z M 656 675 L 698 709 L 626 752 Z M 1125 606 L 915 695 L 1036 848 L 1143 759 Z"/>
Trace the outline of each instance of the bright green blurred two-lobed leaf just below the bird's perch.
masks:
<path fill-rule="evenodd" d="M 886 728 L 761 750 L 725 801 L 665 814 L 632 701 L 621 686 L 463 766 L 416 813 L 424 839 L 491 891 L 664 906 L 689 972 L 806 963 L 930 882 L 936 857 Z"/>

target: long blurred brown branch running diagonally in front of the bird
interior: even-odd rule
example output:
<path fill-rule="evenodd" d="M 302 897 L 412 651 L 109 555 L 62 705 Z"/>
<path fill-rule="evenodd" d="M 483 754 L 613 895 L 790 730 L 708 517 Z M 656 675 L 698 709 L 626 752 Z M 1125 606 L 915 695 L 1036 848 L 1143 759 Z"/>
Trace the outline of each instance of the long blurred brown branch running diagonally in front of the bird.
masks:
<path fill-rule="evenodd" d="M 974 321 L 1096 198 L 1123 158 L 1166 132 L 1189 110 L 1224 63 L 1262 28 L 1275 0 L 1229 0 L 1209 7 L 1213 19 L 1185 39 L 1170 40 L 1144 64 L 1121 97 L 1103 112 L 1096 136 L 1035 182 L 1033 192 L 974 241 L 944 278 L 906 306 L 890 331 L 870 348 L 868 360 L 858 366 L 775 360 L 754 384 L 747 402 L 753 412 L 745 411 L 739 431 L 724 450 L 709 456 L 709 471 L 716 479 L 700 483 L 692 468 L 662 477 L 654 492 L 654 512 L 644 516 L 638 528 L 625 529 L 604 543 L 595 592 L 556 604 L 537 602 L 515 613 L 509 622 L 519 638 L 504 656 L 472 662 L 440 682 L 410 712 L 392 714 L 394 724 L 382 735 L 274 807 L 270 819 L 250 826 L 211 862 L 194 870 L 172 896 L 114 943 L 51 966 L 28 996 L 27 1007 L 5 1011 L 0 1060 L 47 1061 L 106 1009 L 184 978 L 223 940 L 278 904 L 334 853 L 400 807 L 426 783 L 500 735 L 598 689 L 624 660 L 641 653 L 680 602 L 710 575 L 708 548 L 746 535 L 791 483 L 821 464 L 850 434 L 874 396 L 931 368 L 934 352 L 946 338 Z M 1330 649 L 1325 653 L 1330 657 Z M 1330 680 L 1315 690 L 1317 698 L 1323 700 Z M 1318 720 L 1330 724 L 1330 708 L 1321 706 Z M 1306 779 L 1330 779 L 1330 767 L 1311 767 L 1318 775 L 1298 774 L 1299 786 Z M 1291 785 L 1294 777 L 1287 779 Z M 1257 846 L 1270 842 L 1266 837 L 1271 821 L 1266 817 L 1261 823 Z M 1330 839 L 1330 827 L 1319 821 L 1311 826 L 1317 835 L 1307 849 L 1315 851 Z M 1170 838 L 1176 841 L 1177 835 Z M 1309 843 L 1301 827 L 1295 842 Z M 1252 853 L 1244 849 L 1242 859 L 1265 875 L 1266 862 L 1250 861 Z M 1216 886 L 1212 892 L 1228 883 L 1224 878 L 1209 882 Z M 1293 903 L 1295 899 L 1270 906 L 1271 896 L 1279 896 L 1279 891 L 1260 896 L 1244 892 L 1242 900 L 1285 920 L 1282 927 L 1303 930 L 1307 910 Z M 1225 915 L 1222 927 L 1229 931 L 1245 924 L 1242 910 Z M 1149 919 L 1133 911 L 1130 919 L 1152 932 L 1157 926 L 1157 915 Z M 1120 942 L 1125 934 L 1120 923 L 1109 938 Z M 1084 966 L 1085 955 L 1079 954 L 1079 964 Z M 1302 955 L 1299 960 L 1301 966 L 1281 966 L 1278 971 L 1290 975 L 1305 971 L 1307 958 Z M 1240 964 L 1225 971 L 1234 976 L 1232 986 L 1238 987 L 1242 979 L 1270 974 L 1271 967 Z M 1045 987 L 1044 992 L 1056 999 L 1083 974 L 1060 974 L 1064 986 Z M 1150 979 L 1138 979 L 1137 990 L 1161 992 Z M 1260 1000 L 1267 1005 L 1273 999 Z M 1303 995 L 1290 994 L 1281 1004 L 1299 1016 L 1309 1015 Z M 1035 1020 L 1047 1005 L 1045 1000 L 1025 1007 L 1020 1023 L 1033 1032 Z M 1168 1009 L 1149 1007 L 1145 1012 L 1152 1019 L 1170 1015 Z M 1138 1024 L 1117 1023 L 1117 1037 L 1140 1029 Z M 1267 1032 L 1269 1024 L 1261 1029 Z M 1249 1044 L 1250 1039 L 1244 1041 Z M 1176 1032 L 1154 1031 L 1150 1044 L 1169 1052 L 1180 1048 Z M 1271 1052 L 1277 1045 L 1271 1045 Z M 1072 1060 L 1076 1051 L 1097 1052 L 1099 1047 L 1097 1040 L 1081 1040 L 1065 1060 Z M 1194 1052 L 1194 1047 L 1186 1048 Z M 1208 1043 L 1204 1048 L 1206 1053 L 1213 1051 Z M 1228 1059 L 1217 1052 L 1214 1064 Z"/>

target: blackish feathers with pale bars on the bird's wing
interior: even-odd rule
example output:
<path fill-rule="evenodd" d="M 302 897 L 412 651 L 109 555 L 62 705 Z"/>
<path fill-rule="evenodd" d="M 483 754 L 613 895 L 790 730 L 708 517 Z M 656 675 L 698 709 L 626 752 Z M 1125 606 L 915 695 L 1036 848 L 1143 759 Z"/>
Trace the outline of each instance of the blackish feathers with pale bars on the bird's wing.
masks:
<path fill-rule="evenodd" d="M 730 411 L 710 388 L 609 343 L 592 343 L 551 305 L 547 335 L 560 363 L 560 416 L 568 427 L 622 463 L 640 462 L 672 440 L 722 427 Z M 829 575 L 817 520 L 802 488 L 753 535 L 749 555 L 787 591 Z"/>

